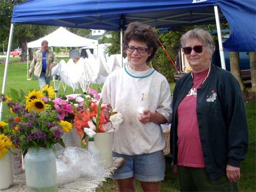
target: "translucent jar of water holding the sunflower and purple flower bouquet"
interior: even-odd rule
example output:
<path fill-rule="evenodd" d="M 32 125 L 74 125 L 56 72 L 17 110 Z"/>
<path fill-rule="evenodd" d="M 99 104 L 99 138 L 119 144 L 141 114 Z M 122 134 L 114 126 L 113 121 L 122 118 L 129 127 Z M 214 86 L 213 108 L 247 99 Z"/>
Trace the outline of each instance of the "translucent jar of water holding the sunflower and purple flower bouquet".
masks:
<path fill-rule="evenodd" d="M 48 148 L 29 148 L 24 158 L 28 191 L 58 191 L 55 155 Z"/>

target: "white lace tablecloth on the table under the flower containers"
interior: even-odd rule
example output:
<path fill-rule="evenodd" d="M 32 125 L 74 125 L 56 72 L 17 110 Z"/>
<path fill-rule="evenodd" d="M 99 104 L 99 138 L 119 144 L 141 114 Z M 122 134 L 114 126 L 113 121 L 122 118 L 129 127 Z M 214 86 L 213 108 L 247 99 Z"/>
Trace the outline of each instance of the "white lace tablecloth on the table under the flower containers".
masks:
<path fill-rule="evenodd" d="M 124 163 L 124 158 L 113 158 L 113 165 L 108 169 L 108 172 L 104 175 L 104 178 L 110 177 L 114 171 Z M 58 188 L 59 192 L 78 192 L 78 191 L 90 191 L 93 192 L 95 189 L 102 184 L 104 180 L 95 180 L 90 177 L 83 177 L 75 182 L 61 185 Z M 11 188 L 0 190 L 1 192 L 20 192 L 27 191 L 25 173 L 14 175 L 14 185 Z"/>

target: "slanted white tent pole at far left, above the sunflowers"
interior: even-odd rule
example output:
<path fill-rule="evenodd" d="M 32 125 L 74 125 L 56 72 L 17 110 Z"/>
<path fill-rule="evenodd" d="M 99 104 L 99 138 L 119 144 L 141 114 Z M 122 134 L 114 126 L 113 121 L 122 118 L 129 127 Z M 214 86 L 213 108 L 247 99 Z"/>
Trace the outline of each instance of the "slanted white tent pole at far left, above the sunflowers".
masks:
<path fill-rule="evenodd" d="M 6 61 L 5 61 L 5 72 L 4 72 L 4 79 L 3 79 L 3 87 L 2 87 L 2 94 L 5 93 L 6 88 L 6 81 L 7 81 L 7 73 L 8 73 L 8 67 L 9 67 L 9 61 L 10 61 L 10 50 L 12 45 L 12 37 L 13 37 L 13 31 L 14 31 L 14 24 L 11 24 L 10 29 L 10 35 L 9 35 L 9 41 L 8 41 L 8 48 L 7 48 L 7 55 L 6 55 Z M 3 101 L 0 103 L 0 121 L 2 120 L 3 116 Z"/>

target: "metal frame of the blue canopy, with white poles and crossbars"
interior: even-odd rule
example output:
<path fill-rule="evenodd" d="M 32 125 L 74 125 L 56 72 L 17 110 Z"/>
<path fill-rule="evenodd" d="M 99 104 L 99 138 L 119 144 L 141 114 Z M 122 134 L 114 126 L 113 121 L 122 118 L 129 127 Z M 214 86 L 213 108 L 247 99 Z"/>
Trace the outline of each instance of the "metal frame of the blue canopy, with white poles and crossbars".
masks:
<path fill-rule="evenodd" d="M 224 52 L 223 52 L 223 46 L 222 46 L 222 37 L 221 37 L 221 25 L 220 25 L 220 17 L 219 17 L 219 11 L 218 11 L 218 6 L 215 5 L 214 6 L 214 11 L 215 11 L 215 18 L 216 18 L 216 26 L 217 26 L 217 32 L 218 32 L 218 41 L 219 41 L 219 49 L 220 49 L 220 57 L 221 57 L 221 66 L 222 69 L 226 69 L 225 67 L 225 59 L 224 59 Z M 185 15 L 190 15 L 191 13 L 186 13 Z M 211 13 L 207 14 L 207 13 L 193 13 L 193 14 L 206 14 L 206 15 L 212 15 Z M 179 15 L 180 16 L 180 15 Z M 214 16 L 214 15 L 212 15 Z M 161 20 L 161 21 L 165 21 L 165 22 L 175 22 L 175 20 L 173 20 L 175 17 L 178 17 L 178 15 L 175 16 L 168 16 L 168 17 L 163 17 L 163 18 L 158 18 L 157 20 Z M 130 18 L 130 17 L 127 17 Z M 138 19 L 139 22 L 144 23 L 144 24 L 148 24 L 150 25 L 151 22 L 153 22 L 153 19 L 151 20 L 147 20 L 146 18 L 137 18 L 137 17 L 133 17 Z M 124 16 L 121 17 L 120 19 L 120 25 L 115 25 L 115 24 L 110 24 L 108 23 L 109 20 L 113 20 L 114 18 L 109 18 L 109 19 L 105 19 L 105 20 L 97 20 L 97 19 L 93 19 L 90 18 L 92 20 L 92 22 L 90 23 L 84 23 L 84 24 L 92 24 L 92 23 L 106 23 L 108 25 L 113 25 L 116 27 L 120 27 L 120 53 L 121 53 L 121 58 L 122 58 L 122 67 L 123 67 L 123 51 L 122 51 L 122 41 L 123 41 L 123 29 L 124 29 L 124 25 L 123 25 L 123 21 L 124 21 Z M 170 20 L 172 19 L 172 20 Z M 200 20 L 207 20 L 208 18 L 205 19 L 200 19 Z M 58 20 L 58 19 L 57 19 Z M 200 20 L 195 20 L 194 22 L 199 22 Z M 58 20 L 60 21 L 60 20 Z M 155 21 L 155 20 L 154 20 Z M 176 21 L 176 22 L 180 22 L 181 21 Z M 62 22 L 65 23 L 65 22 Z M 184 22 L 184 24 L 187 24 L 187 22 Z M 69 23 L 70 24 L 70 23 Z M 79 24 L 77 26 L 74 27 L 79 27 L 82 26 L 84 24 Z M 6 80 L 7 80 L 7 72 L 8 72 L 8 66 L 9 66 L 9 61 L 10 61 L 10 49 L 11 49 L 11 44 L 12 44 L 12 38 L 13 38 L 13 31 L 14 31 L 14 24 L 11 23 L 11 29 L 10 29 L 10 35 L 9 35 L 9 41 L 8 41 L 8 49 L 7 49 L 7 56 L 6 56 L 6 63 L 5 63 L 5 72 L 4 72 L 4 80 L 3 80 L 3 87 L 2 87 L 2 94 L 5 93 L 5 89 L 6 89 Z M 0 103 L 0 121 L 2 120 L 2 116 L 3 116 L 3 101 L 1 101 Z"/>

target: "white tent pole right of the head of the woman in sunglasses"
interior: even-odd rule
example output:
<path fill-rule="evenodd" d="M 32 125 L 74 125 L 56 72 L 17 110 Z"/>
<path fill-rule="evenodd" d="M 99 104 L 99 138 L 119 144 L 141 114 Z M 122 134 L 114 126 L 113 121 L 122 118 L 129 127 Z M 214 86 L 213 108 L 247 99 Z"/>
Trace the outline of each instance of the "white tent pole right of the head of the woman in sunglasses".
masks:
<path fill-rule="evenodd" d="M 218 10 L 217 5 L 214 6 L 214 12 L 215 12 L 219 49 L 220 49 L 220 56 L 221 56 L 221 68 L 226 70 L 225 57 L 224 57 L 224 52 L 223 52 L 223 47 L 222 47 L 221 24 L 220 24 L 219 10 Z"/>

